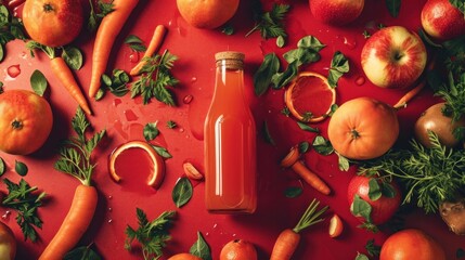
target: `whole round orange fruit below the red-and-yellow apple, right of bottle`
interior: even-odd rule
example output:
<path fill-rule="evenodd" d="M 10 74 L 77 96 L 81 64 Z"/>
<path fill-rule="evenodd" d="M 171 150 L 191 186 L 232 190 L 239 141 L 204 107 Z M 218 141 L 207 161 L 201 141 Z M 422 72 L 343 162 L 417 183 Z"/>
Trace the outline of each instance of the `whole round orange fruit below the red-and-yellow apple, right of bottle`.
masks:
<path fill-rule="evenodd" d="M 350 159 L 372 159 L 396 143 L 399 121 L 389 105 L 358 98 L 337 108 L 331 117 L 327 134 L 340 155 Z"/>

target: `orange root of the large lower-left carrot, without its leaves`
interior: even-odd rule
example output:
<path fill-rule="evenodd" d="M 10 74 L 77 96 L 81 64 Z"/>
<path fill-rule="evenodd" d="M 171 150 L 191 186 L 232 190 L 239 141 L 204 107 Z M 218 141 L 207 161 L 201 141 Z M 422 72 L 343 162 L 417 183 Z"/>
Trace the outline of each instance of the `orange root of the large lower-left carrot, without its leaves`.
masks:
<path fill-rule="evenodd" d="M 46 247 L 39 260 L 61 260 L 82 237 L 96 208 L 95 187 L 80 184 L 59 232 Z"/>

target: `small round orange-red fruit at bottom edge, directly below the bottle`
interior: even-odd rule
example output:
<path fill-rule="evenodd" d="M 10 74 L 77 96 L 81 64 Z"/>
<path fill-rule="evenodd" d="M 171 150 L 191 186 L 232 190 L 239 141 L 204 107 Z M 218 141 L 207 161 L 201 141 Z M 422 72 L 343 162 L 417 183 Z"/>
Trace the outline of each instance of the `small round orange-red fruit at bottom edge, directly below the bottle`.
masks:
<path fill-rule="evenodd" d="M 257 250 L 250 242 L 234 239 L 223 246 L 220 260 L 257 260 Z"/>

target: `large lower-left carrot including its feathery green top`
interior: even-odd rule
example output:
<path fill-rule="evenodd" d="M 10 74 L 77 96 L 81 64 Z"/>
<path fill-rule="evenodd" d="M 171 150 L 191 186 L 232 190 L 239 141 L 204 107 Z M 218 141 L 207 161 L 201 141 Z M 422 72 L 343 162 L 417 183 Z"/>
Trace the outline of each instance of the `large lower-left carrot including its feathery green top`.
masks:
<path fill-rule="evenodd" d="M 72 250 L 86 233 L 92 222 L 99 195 L 91 184 L 95 167 L 91 161 L 92 151 L 105 134 L 105 130 L 86 139 L 90 127 L 82 109 L 78 108 L 72 120 L 77 136 L 70 138 L 61 148 L 61 157 L 55 162 L 55 169 L 78 179 L 81 183 L 76 187 L 72 206 L 59 231 L 43 250 L 39 260 L 61 260 Z"/>

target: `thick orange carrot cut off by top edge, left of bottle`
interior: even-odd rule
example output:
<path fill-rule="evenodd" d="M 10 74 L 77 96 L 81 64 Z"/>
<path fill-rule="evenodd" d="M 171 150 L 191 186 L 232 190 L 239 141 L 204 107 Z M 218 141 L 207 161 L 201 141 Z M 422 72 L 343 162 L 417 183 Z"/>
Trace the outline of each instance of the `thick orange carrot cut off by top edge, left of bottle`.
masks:
<path fill-rule="evenodd" d="M 95 96 L 99 91 L 100 79 L 106 70 L 115 39 L 138 2 L 139 0 L 114 0 L 114 11 L 103 17 L 93 43 L 90 98 Z"/>

